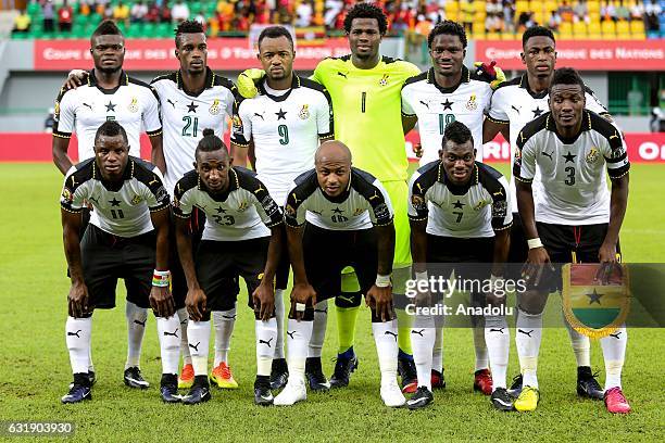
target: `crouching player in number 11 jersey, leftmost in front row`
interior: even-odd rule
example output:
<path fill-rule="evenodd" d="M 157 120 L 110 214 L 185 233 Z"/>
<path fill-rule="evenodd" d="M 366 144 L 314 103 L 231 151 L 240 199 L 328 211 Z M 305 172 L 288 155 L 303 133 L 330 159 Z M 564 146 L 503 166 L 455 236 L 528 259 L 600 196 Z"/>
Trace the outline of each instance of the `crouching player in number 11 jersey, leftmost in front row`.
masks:
<path fill-rule="evenodd" d="M 81 240 L 79 228 L 86 203 L 93 211 Z M 168 192 L 160 172 L 129 156 L 125 129 L 117 122 L 106 122 L 95 136 L 95 157 L 67 174 L 61 207 L 72 278 L 66 343 L 74 372 L 74 383 L 62 402 L 91 398 L 87 372 L 92 312 L 115 306 L 118 278 L 125 280 L 127 300 L 142 308 L 152 307 L 156 316 L 162 398 L 178 402 L 180 325 L 168 291 Z"/>

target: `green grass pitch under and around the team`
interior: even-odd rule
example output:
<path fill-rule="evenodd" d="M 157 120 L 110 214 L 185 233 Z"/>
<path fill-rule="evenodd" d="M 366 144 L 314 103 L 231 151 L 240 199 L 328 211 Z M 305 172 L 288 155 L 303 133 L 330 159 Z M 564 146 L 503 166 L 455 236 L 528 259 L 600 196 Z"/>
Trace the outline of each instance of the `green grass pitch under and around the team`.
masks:
<path fill-rule="evenodd" d="M 627 261 L 665 261 L 663 174 L 662 166 L 633 166 L 622 233 Z M 367 308 L 361 312 L 356 332 L 361 366 L 348 389 L 311 394 L 308 402 L 291 408 L 259 408 L 252 404 L 253 317 L 249 308 L 239 307 L 230 363 L 240 389 L 214 390 L 211 402 L 186 407 L 160 401 L 161 366 L 153 318 L 148 321 L 142 356 L 142 370 L 152 385 L 142 392 L 123 385 L 126 326 L 122 293 L 121 307 L 95 314 L 92 353 L 99 381 L 93 400 L 62 406 L 60 396 L 66 391 L 71 371 L 64 340 L 68 280 L 58 205 L 60 187 L 61 176 L 50 164 L 0 164 L 4 207 L 0 213 L 0 420 L 71 420 L 76 423 L 75 439 L 80 441 L 584 442 L 653 441 L 663 435 L 663 330 L 630 331 L 624 369 L 625 392 L 633 406 L 628 417 L 611 416 L 602 403 L 577 398 L 575 360 L 564 329 L 544 332 L 539 365 L 542 401 L 532 414 L 495 412 L 487 397 L 472 393 L 472 334 L 463 329 L 444 333 L 449 388 L 437 393 L 435 406 L 417 413 L 387 409 L 378 396 L 379 375 Z M 239 306 L 243 306 L 244 296 L 240 295 Z M 331 372 L 330 358 L 336 351 L 335 322 L 335 315 L 330 315 L 324 352 L 326 374 Z M 592 347 L 592 364 L 603 369 L 598 343 Z M 513 343 L 509 374 L 517 370 Z"/>

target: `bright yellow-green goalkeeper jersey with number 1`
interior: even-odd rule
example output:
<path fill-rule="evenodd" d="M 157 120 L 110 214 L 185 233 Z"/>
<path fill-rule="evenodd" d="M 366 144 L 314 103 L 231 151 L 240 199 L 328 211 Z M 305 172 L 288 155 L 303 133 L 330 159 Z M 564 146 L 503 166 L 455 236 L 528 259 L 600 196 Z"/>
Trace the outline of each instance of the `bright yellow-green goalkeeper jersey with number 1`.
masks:
<path fill-rule="evenodd" d="M 353 166 L 380 181 L 407 178 L 401 90 L 418 74 L 414 64 L 387 56 L 371 69 L 355 67 L 344 55 L 322 60 L 314 71 L 312 78 L 332 99 L 335 138 L 351 150 Z"/>

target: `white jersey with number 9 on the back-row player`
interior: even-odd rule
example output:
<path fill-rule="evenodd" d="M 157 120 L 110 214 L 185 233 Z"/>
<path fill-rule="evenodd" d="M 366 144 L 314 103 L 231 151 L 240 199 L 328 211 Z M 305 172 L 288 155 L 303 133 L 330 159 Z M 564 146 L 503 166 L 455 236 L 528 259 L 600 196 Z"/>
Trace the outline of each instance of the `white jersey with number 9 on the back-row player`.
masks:
<path fill-rule="evenodd" d="M 293 179 L 314 167 L 319 140 L 334 137 L 332 105 L 323 86 L 297 75 L 281 96 L 266 92 L 263 83 L 259 90 L 237 104 L 231 141 L 249 147 L 253 140 L 259 179 L 283 203 Z"/>

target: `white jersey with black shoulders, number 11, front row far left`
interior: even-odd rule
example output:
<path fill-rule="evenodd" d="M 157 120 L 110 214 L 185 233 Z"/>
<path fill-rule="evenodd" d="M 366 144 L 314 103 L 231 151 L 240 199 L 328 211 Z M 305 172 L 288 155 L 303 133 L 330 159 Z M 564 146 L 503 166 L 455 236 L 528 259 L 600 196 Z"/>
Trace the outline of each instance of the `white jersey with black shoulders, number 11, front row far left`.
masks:
<path fill-rule="evenodd" d="M 117 237 L 136 237 L 153 229 L 150 213 L 168 207 L 168 192 L 154 165 L 129 157 L 120 185 L 105 181 L 88 159 L 72 167 L 65 177 L 60 205 L 73 213 L 91 203 L 90 224 Z"/>

